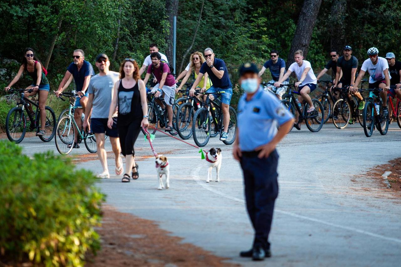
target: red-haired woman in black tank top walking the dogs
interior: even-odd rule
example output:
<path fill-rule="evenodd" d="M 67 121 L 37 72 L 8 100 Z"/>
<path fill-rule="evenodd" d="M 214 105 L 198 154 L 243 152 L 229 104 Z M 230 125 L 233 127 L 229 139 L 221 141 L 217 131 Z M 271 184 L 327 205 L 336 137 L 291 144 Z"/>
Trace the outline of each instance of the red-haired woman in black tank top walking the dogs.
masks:
<path fill-rule="evenodd" d="M 118 105 L 117 131 L 121 152 L 126 158 L 125 174 L 122 182 L 139 178 L 138 164 L 135 163 L 135 141 L 141 127 L 148 127 L 148 103 L 146 87 L 139 75 L 138 63 L 127 58 L 120 65 L 120 80 L 114 85 L 107 127 L 113 125 L 113 113 Z M 131 173 L 131 176 L 130 176 Z"/>

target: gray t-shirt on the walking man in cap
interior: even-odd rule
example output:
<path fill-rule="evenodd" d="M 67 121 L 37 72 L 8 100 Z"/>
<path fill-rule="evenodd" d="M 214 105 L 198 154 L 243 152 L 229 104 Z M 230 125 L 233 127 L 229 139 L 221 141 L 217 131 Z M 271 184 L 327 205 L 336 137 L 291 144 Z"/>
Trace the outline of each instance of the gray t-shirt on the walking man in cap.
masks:
<path fill-rule="evenodd" d="M 119 73 L 110 71 L 107 75 L 93 76 L 89 82 L 88 93 L 93 94 L 92 118 L 109 117 L 111 90 L 119 79 Z"/>

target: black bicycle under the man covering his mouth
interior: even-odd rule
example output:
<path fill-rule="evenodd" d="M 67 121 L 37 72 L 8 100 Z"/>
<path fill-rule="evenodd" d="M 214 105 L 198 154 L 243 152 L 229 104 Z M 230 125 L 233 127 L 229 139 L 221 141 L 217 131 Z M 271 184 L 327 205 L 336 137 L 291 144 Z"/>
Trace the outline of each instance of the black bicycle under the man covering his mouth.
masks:
<path fill-rule="evenodd" d="M 209 95 L 219 95 L 221 93 L 225 93 L 225 91 L 219 91 L 216 93 L 203 93 L 204 95 L 208 95 L 208 97 L 206 98 L 203 107 L 198 109 L 194 115 L 194 119 L 192 122 L 192 137 L 194 138 L 195 144 L 199 147 L 207 145 L 212 130 L 215 134 L 221 135 L 224 129 L 221 102 L 211 100 L 209 97 Z M 211 108 L 212 104 L 213 107 Z M 209 112 L 211 113 L 211 117 L 209 115 Z M 226 145 L 233 144 L 235 136 L 237 134 L 237 112 L 233 107 L 229 107 L 229 114 L 230 121 L 227 130 L 228 138 L 223 141 L 223 143 Z M 212 123 L 214 124 L 214 128 L 212 127 Z"/>

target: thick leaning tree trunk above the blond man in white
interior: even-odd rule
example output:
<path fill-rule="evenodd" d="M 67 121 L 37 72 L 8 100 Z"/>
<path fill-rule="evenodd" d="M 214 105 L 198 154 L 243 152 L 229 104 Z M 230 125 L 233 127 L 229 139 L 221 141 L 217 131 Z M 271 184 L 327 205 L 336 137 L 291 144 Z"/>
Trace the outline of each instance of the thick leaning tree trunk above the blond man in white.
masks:
<path fill-rule="evenodd" d="M 295 29 L 294 39 L 292 39 L 290 53 L 287 58 L 287 68 L 294 62 L 294 53 L 298 49 L 304 52 L 304 58 L 308 55 L 312 30 L 319 13 L 322 0 L 304 0 L 297 27 Z"/>

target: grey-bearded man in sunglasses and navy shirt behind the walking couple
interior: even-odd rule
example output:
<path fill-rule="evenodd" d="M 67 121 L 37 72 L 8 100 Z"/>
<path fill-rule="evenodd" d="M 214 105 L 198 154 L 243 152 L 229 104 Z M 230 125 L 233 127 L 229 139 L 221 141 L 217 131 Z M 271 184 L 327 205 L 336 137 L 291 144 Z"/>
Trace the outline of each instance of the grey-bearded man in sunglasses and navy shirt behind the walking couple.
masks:
<path fill-rule="evenodd" d="M 74 50 L 73 59 L 74 61 L 68 66 L 64 78 L 59 85 L 59 89 L 57 89 L 55 94 L 57 97 L 59 97 L 60 93 L 63 92 L 63 87 L 65 83 L 67 83 L 71 75 L 73 75 L 75 86 L 77 87 L 75 91 L 77 91 L 77 94 L 79 96 L 77 97 L 77 101 L 75 101 L 76 108 L 74 112 L 74 119 L 77 122 L 78 127 L 81 128 L 82 112 L 83 109 L 85 109 L 86 104 L 88 103 L 88 97 L 89 97 L 87 89 L 89 86 L 89 81 L 91 77 L 95 75 L 95 72 L 93 71 L 91 63 L 85 60 L 85 53 L 83 53 L 81 49 Z M 79 148 L 77 140 L 78 140 L 78 130 L 75 129 L 75 137 L 73 145 L 74 148 Z"/>

